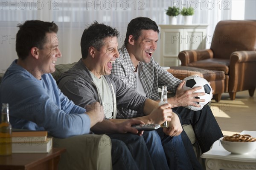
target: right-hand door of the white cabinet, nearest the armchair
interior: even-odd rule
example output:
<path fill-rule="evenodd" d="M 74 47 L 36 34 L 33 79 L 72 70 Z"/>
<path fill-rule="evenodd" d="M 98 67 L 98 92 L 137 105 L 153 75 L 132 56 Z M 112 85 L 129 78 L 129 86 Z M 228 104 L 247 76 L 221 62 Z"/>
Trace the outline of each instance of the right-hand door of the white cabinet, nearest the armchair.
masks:
<path fill-rule="evenodd" d="M 182 50 L 205 49 L 205 29 L 184 29 L 183 31 L 184 37 L 180 37 L 183 44 Z"/>

